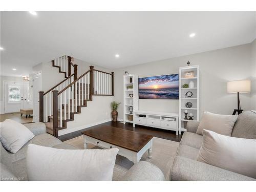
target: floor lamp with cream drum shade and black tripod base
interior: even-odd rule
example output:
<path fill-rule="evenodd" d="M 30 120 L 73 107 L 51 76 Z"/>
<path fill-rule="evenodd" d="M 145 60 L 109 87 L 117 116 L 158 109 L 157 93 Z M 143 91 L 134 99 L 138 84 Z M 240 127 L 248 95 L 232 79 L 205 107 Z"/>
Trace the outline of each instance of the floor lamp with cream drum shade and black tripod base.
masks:
<path fill-rule="evenodd" d="M 228 93 L 238 93 L 238 109 L 234 109 L 232 115 L 238 115 L 244 110 L 241 109 L 239 93 L 250 93 L 251 91 L 251 81 L 250 80 L 238 80 L 227 82 L 227 92 Z"/>

